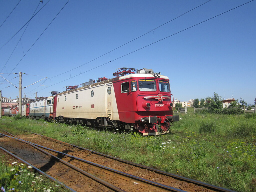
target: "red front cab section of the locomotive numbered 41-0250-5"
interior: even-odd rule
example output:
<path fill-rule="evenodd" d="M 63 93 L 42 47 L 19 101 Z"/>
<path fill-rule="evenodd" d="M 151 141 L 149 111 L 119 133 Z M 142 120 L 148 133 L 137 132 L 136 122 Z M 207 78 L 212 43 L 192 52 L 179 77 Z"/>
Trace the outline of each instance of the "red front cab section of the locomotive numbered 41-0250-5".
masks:
<path fill-rule="evenodd" d="M 173 116 L 173 95 L 169 78 L 141 69 L 113 82 L 116 104 L 124 129 L 136 129 L 143 135 L 168 133 L 179 116 Z"/>

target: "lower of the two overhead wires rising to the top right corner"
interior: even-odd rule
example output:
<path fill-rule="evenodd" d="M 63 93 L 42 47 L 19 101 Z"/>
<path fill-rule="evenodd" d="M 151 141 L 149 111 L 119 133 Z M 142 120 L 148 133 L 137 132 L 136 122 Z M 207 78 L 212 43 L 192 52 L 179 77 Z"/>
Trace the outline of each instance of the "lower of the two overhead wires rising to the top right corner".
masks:
<path fill-rule="evenodd" d="M 116 58 L 116 59 L 113 59 L 112 61 L 115 61 L 115 60 L 118 60 L 118 59 L 120 59 L 120 58 L 122 58 L 122 57 L 125 57 L 125 56 L 127 56 L 127 55 L 130 55 L 130 54 L 132 54 L 132 53 L 134 53 L 134 52 L 136 52 L 136 51 L 138 51 L 138 50 L 141 50 L 141 49 L 143 49 L 143 48 L 146 48 L 146 47 L 148 47 L 148 46 L 150 46 L 150 45 L 156 44 L 157 42 L 160 42 L 160 41 L 162 41 L 162 40 L 164 40 L 164 39 L 166 39 L 166 38 L 172 37 L 172 36 L 174 36 L 174 35 L 176 35 L 176 34 L 178 34 L 178 33 L 181 33 L 181 32 L 183 32 L 183 31 L 187 30 L 187 29 L 190 29 L 190 28 L 195 27 L 195 26 L 197 26 L 197 25 L 199 25 L 199 24 L 202 24 L 202 23 L 204 23 L 204 22 L 206 22 L 206 21 L 208 21 L 208 20 L 210 20 L 210 19 L 213 19 L 213 18 L 215 18 L 215 17 L 218 17 L 218 16 L 220 16 L 220 15 L 223 15 L 223 14 L 225 14 L 225 13 L 231 11 L 231 10 L 234 10 L 234 9 L 236 9 L 236 8 L 238 8 L 238 7 L 241 7 L 241 6 L 243 6 L 243 5 L 246 5 L 246 4 L 248 4 L 248 3 L 252 2 L 252 1 L 254 1 L 254 0 L 251 0 L 251 1 L 247 2 L 247 3 L 244 3 L 244 4 L 242 4 L 242 5 L 239 5 L 239 6 L 237 6 L 237 7 L 234 7 L 234 8 L 232 8 L 232 9 L 226 11 L 226 12 L 223 12 L 223 13 L 221 13 L 221 14 L 218 14 L 218 15 L 214 16 L 214 17 L 211 17 L 211 18 L 209 18 L 209 19 L 206 19 L 206 20 L 204 20 L 204 21 L 202 21 L 202 22 L 200 22 L 200 23 L 198 23 L 198 24 L 195 24 L 195 25 L 193 25 L 193 26 L 190 26 L 190 27 L 188 27 L 188 28 L 186 28 L 186 29 L 183 29 L 183 30 L 181 30 L 181 31 L 178 31 L 177 33 L 174 33 L 174 34 L 172 34 L 172 35 L 169 35 L 169 36 L 167 36 L 167 37 L 165 37 L 165 38 L 162 38 L 162 39 L 160 39 L 160 40 L 158 40 L 158 41 L 156 41 L 156 42 L 153 42 L 153 43 L 148 44 L 148 45 L 146 45 L 146 46 L 144 46 L 144 47 L 141 47 L 141 48 L 139 48 L 139 49 L 137 49 L 137 50 L 134 50 L 134 51 L 132 51 L 132 52 L 130 52 L 130 53 L 128 53 L 128 54 L 125 54 L 125 55 L 123 55 L 123 56 L 121 56 L 121 57 L 118 57 L 118 58 Z M 108 53 L 107 53 L 107 54 L 108 54 Z M 84 72 L 82 72 L 82 73 L 80 73 L 80 74 L 86 73 L 86 72 L 88 72 L 88 71 L 91 71 L 91 70 L 96 69 L 96 68 L 98 68 L 98 67 L 101 67 L 101 66 L 103 66 L 103 65 L 106 65 L 106 64 L 108 64 L 108 63 L 110 63 L 110 62 L 111 62 L 111 61 L 106 62 L 106 63 L 103 63 L 102 65 L 99 65 L 99 66 L 97 66 L 97 67 L 94 67 L 94 68 L 92 68 L 92 69 L 89 69 L 89 70 L 87 70 L 87 71 L 84 71 Z M 76 69 L 76 68 L 75 68 L 75 69 Z M 72 70 L 73 70 L 73 69 L 72 69 Z M 69 71 L 67 71 L 67 72 L 69 72 Z M 62 73 L 62 74 L 64 74 L 64 73 Z M 75 76 L 73 76 L 73 77 L 79 76 L 80 74 L 77 74 L 77 75 L 75 75 Z M 55 76 L 55 77 L 56 77 L 56 76 Z M 73 78 L 73 77 L 70 77 L 70 78 L 68 78 L 68 79 L 71 79 L 71 78 Z M 49 79 L 51 80 L 51 78 L 49 78 Z M 60 82 L 58 82 L 58 83 L 55 83 L 55 84 L 51 84 L 51 86 L 54 86 L 54 85 L 59 84 L 59 83 L 61 83 L 61 82 L 64 82 L 64 81 L 66 81 L 66 80 L 68 80 L 68 79 L 62 80 L 62 81 L 60 81 Z M 51 86 L 49 86 L 49 87 L 51 87 Z M 46 89 L 46 88 L 44 88 L 44 89 Z M 42 90 L 44 90 L 44 89 L 42 89 Z M 42 90 L 41 90 L 41 91 L 42 91 Z"/>

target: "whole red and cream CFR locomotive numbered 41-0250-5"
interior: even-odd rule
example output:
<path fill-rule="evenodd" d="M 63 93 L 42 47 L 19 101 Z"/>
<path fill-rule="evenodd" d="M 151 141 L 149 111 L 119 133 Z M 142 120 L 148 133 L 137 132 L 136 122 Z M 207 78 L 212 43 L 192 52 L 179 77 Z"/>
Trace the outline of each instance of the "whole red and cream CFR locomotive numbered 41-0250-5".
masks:
<path fill-rule="evenodd" d="M 173 122 L 179 121 L 179 116 L 173 115 L 168 77 L 151 69 L 121 68 L 113 74 L 117 77 L 57 93 L 53 119 L 108 129 L 135 129 L 143 135 L 168 133 Z"/>

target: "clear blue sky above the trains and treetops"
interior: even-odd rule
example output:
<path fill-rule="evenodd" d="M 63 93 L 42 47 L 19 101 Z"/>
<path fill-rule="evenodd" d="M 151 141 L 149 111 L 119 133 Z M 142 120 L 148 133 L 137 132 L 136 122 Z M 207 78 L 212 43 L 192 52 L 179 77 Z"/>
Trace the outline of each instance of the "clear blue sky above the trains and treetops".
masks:
<path fill-rule="evenodd" d="M 47 2 L 0 1 L 0 48 L 9 40 L 0 50 L 1 76 L 18 86 L 18 78 L 13 79 L 18 75 L 13 73 L 27 73 L 23 75 L 23 87 L 48 77 L 38 82 L 41 85 L 23 89 L 23 97 L 26 94 L 34 98 L 36 91 L 38 96 L 47 97 L 51 91 L 62 92 L 65 86 L 79 85 L 89 79 L 112 78 L 117 68 L 130 67 L 149 68 L 168 76 L 171 92 L 180 101 L 211 97 L 216 92 L 223 99 L 241 97 L 254 104 L 256 1 L 220 16 L 217 15 L 249 0 L 66 0 L 50 1 L 42 8 Z M 35 10 L 37 15 L 25 25 Z M 191 27 L 214 16 L 217 17 Z M 188 27 L 191 28 L 182 31 Z M 182 32 L 173 35 L 179 31 Z M 142 47 L 145 48 L 133 52 Z M 89 62 L 99 56 L 102 57 Z M 18 89 L 1 84 L 3 81 L 1 78 L 2 96 L 16 98 Z"/>

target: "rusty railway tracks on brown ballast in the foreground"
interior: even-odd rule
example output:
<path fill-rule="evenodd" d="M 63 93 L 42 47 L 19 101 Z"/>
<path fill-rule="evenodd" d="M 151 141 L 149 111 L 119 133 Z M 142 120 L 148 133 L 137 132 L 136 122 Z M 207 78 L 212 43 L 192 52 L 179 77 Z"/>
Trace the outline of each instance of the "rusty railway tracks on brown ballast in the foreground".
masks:
<path fill-rule="evenodd" d="M 40 156 L 36 162 L 30 159 L 31 164 L 76 191 L 84 191 L 88 188 L 86 187 L 88 178 L 90 182 L 94 182 L 92 186 L 101 191 L 232 191 L 97 153 L 36 133 L 21 139 L 8 132 L 1 132 L 4 136 L 0 140 L 1 146 L 24 158 L 19 151 L 23 151 L 21 149 L 29 145 L 29 148 L 33 149 L 32 153 Z M 67 170 L 70 173 L 63 173 Z M 73 173 L 74 176 L 70 180 L 70 175 Z M 76 177 L 80 180 L 79 184 Z"/>

